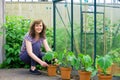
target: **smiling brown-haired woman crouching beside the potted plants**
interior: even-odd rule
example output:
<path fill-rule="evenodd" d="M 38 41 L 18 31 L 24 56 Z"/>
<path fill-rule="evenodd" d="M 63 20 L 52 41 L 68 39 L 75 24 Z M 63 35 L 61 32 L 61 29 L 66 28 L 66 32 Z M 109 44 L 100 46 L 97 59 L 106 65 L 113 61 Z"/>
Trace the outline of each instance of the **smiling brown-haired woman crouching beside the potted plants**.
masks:
<path fill-rule="evenodd" d="M 43 67 L 48 66 L 45 61 L 42 61 L 44 54 L 42 54 L 40 50 L 43 44 L 46 51 L 51 51 L 46 40 L 45 31 L 46 26 L 42 20 L 33 21 L 30 26 L 30 31 L 25 35 L 22 43 L 20 59 L 30 64 L 31 67 L 29 71 L 33 74 L 41 74 L 36 69 L 36 62 Z"/>

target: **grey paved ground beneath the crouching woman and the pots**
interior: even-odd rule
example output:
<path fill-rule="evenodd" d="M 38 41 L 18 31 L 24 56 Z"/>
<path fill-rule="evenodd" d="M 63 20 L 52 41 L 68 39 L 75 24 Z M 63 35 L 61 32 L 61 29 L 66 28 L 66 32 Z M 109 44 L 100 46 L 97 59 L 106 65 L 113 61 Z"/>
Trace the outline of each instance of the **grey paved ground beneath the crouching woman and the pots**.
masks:
<path fill-rule="evenodd" d="M 46 71 L 42 75 L 32 75 L 28 69 L 0 69 L 0 80 L 61 80 L 60 75 L 49 77 Z M 79 80 L 78 76 L 73 76 L 71 80 Z M 98 80 L 97 76 L 92 80 Z M 120 80 L 120 77 L 113 77 L 112 80 Z"/>

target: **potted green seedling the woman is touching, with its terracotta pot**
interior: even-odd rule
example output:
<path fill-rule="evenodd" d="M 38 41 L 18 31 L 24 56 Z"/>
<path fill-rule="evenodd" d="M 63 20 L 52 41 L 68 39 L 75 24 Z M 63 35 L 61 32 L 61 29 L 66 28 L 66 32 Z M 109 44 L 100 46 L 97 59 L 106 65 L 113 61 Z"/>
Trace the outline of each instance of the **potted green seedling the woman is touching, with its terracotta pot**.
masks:
<path fill-rule="evenodd" d="M 48 76 L 56 76 L 56 69 L 58 66 L 57 53 L 48 51 L 43 56 L 43 60 L 49 63 L 49 66 L 47 67 Z"/>

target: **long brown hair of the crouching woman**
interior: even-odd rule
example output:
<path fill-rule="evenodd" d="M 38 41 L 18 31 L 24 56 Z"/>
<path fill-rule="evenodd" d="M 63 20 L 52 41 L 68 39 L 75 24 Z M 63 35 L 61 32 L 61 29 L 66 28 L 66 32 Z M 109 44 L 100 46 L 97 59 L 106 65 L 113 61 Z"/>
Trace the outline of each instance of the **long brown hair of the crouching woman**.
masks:
<path fill-rule="evenodd" d="M 39 36 L 40 36 L 41 38 L 45 38 L 45 37 L 46 37 L 46 34 L 45 34 L 46 25 L 44 24 L 43 20 L 40 19 L 40 20 L 34 20 L 34 21 L 32 22 L 32 24 L 31 24 L 31 26 L 30 26 L 29 34 L 30 34 L 30 36 L 31 36 L 32 38 L 35 38 L 35 25 L 36 25 L 36 24 L 40 24 L 40 23 L 42 23 L 42 25 L 43 25 L 43 30 L 42 30 L 42 32 L 39 34 Z"/>

